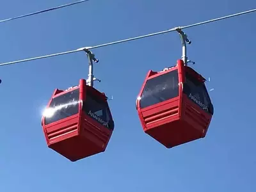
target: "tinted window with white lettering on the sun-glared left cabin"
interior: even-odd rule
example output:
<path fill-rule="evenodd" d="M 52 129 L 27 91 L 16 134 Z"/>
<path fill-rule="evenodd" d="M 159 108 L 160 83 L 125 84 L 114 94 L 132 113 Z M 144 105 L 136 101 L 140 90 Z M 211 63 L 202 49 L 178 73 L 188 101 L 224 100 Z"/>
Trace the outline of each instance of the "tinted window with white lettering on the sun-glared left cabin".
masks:
<path fill-rule="evenodd" d="M 86 101 L 83 104 L 83 111 L 108 129 L 114 129 L 114 122 L 111 118 L 108 102 L 106 100 L 93 97 L 93 95 L 87 92 Z"/>

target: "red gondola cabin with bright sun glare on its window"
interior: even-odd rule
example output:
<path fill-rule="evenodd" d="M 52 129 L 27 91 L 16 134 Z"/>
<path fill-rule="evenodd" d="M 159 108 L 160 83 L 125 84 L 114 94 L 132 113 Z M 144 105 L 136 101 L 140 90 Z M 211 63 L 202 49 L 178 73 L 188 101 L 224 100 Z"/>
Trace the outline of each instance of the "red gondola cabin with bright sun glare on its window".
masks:
<path fill-rule="evenodd" d="M 49 148 L 77 161 L 104 152 L 114 122 L 104 93 L 81 79 L 79 86 L 54 91 L 42 127 Z"/>

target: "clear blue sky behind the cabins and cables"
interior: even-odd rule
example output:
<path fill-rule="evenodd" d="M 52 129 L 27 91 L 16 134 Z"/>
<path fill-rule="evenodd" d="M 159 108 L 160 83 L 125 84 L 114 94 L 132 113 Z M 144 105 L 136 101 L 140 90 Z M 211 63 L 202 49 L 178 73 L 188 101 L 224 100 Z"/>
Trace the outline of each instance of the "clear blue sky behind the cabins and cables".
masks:
<path fill-rule="evenodd" d="M 0 19 L 64 3 L 70 1 L 4 1 Z M 145 35 L 255 5 L 253 0 L 90 0 L 1 23 L 0 62 Z M 143 132 L 135 100 L 149 69 L 162 70 L 180 58 L 177 33 L 93 51 L 100 60 L 95 76 L 102 79 L 95 87 L 114 98 L 109 105 L 115 131 L 106 152 L 76 163 L 47 148 L 41 115 L 54 88 L 87 78 L 86 55 L 0 67 L 0 191 L 256 191 L 255 18 L 251 13 L 185 30 L 195 70 L 211 77 L 214 116 L 206 138 L 171 149 Z"/>

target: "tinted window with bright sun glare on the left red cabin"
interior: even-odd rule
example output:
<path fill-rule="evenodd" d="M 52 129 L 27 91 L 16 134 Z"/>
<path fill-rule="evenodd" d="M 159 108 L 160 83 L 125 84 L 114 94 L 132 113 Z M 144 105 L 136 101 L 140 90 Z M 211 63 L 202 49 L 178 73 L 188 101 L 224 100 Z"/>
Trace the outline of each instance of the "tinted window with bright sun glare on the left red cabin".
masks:
<path fill-rule="evenodd" d="M 52 99 L 45 114 L 45 125 L 51 124 L 68 116 L 76 115 L 79 111 L 79 89 L 65 93 Z"/>

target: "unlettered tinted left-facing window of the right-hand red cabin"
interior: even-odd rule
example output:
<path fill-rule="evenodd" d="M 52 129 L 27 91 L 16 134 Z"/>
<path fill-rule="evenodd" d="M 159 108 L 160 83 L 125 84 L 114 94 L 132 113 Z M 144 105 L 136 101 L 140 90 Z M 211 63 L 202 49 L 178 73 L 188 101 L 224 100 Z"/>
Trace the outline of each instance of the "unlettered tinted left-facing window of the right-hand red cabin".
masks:
<path fill-rule="evenodd" d="M 178 70 L 149 79 L 140 98 L 140 108 L 179 96 Z"/>

